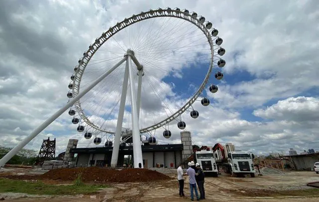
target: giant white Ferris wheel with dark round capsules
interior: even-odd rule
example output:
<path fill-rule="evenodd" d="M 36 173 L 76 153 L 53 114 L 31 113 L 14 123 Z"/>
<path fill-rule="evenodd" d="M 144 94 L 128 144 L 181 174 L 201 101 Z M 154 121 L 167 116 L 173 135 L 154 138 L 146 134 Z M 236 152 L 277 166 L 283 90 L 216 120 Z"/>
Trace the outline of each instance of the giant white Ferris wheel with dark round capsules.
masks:
<path fill-rule="evenodd" d="M 76 130 L 97 145 L 113 146 L 112 166 L 119 148 L 133 144 L 134 167 L 143 167 L 141 142 L 156 144 L 156 130 L 165 138 L 173 127 L 184 130 L 185 116 L 197 119 L 205 110 L 196 108 L 196 101 L 207 107 L 206 92 L 218 91 L 226 62 L 217 35 L 204 16 L 169 7 L 110 27 L 83 53 L 70 77 L 67 97 L 74 105 L 68 114 Z M 212 73 L 215 82 L 208 84 Z M 191 80 L 184 83 L 183 76 Z M 176 85 L 182 92 L 174 91 Z"/>

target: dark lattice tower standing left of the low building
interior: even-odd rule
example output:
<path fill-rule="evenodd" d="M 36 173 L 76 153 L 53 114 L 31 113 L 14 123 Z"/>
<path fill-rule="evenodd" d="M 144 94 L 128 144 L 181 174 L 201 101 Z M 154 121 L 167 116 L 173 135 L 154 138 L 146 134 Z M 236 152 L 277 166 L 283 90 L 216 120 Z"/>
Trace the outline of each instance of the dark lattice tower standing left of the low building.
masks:
<path fill-rule="evenodd" d="M 55 158 L 55 138 L 54 140 L 50 140 L 50 137 L 48 139 L 43 139 L 38 157 L 37 157 L 37 163 L 42 163 L 45 160 L 52 160 Z"/>

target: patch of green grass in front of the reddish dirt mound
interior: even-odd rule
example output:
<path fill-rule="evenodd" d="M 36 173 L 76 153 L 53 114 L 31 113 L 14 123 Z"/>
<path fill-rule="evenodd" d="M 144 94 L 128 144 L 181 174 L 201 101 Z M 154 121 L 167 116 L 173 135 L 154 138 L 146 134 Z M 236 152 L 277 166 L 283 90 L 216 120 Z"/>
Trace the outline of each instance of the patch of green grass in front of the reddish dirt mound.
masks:
<path fill-rule="evenodd" d="M 21 180 L 9 180 L 0 178 L 0 193 L 13 192 L 32 195 L 77 195 L 92 194 L 99 189 L 107 188 L 107 185 L 89 185 L 81 181 L 78 175 L 73 185 L 48 185 L 43 182 L 26 182 Z"/>

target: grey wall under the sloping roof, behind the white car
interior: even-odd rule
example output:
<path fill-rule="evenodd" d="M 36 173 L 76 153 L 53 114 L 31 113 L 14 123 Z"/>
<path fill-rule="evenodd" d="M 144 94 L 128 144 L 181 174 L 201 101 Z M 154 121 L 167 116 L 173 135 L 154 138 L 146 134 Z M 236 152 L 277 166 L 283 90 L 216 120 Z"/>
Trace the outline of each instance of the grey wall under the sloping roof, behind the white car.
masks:
<path fill-rule="evenodd" d="M 291 158 L 295 163 L 296 170 L 314 170 L 315 162 L 319 162 L 319 153 L 291 156 Z"/>

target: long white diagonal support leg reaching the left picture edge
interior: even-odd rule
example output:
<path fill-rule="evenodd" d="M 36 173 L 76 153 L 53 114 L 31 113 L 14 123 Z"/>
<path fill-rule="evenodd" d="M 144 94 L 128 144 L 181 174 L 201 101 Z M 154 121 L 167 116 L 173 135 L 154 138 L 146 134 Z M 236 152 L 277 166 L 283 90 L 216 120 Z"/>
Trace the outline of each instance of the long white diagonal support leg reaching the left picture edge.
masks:
<path fill-rule="evenodd" d="M 87 92 L 89 92 L 94 86 L 101 82 L 105 77 L 107 77 L 112 71 L 119 67 L 122 63 L 127 60 L 127 57 L 123 58 L 118 64 L 109 69 L 107 72 L 103 73 L 98 79 L 96 79 L 91 85 L 81 91 L 77 96 L 75 96 L 70 102 L 68 102 L 64 107 L 55 112 L 51 117 L 44 121 L 38 128 L 36 128 L 29 136 L 25 137 L 20 141 L 13 149 L 11 149 L 7 154 L 5 154 L 0 159 L 0 167 L 3 167 L 6 162 L 8 162 L 15 154 L 17 154 L 27 143 L 29 143 L 36 135 L 41 133 L 47 126 L 49 126 L 54 120 L 56 120 L 61 114 L 63 114 L 67 109 L 76 103 L 81 97 L 83 97 Z"/>

